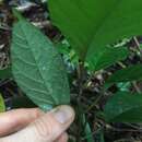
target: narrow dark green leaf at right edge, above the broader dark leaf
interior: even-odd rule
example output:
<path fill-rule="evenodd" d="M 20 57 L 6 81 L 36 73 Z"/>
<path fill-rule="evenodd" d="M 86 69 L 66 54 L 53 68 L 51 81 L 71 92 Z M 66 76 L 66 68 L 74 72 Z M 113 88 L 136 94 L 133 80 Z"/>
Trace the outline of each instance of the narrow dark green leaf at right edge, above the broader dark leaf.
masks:
<path fill-rule="evenodd" d="M 131 66 L 116 71 L 108 78 L 106 84 L 142 80 L 142 64 Z"/>

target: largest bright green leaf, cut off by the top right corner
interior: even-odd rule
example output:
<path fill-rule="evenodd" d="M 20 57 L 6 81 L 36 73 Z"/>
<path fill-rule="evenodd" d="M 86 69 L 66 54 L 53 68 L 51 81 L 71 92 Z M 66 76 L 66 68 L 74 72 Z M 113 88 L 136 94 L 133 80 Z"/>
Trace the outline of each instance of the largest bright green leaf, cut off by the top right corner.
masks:
<path fill-rule="evenodd" d="M 49 0 L 51 19 L 82 59 L 96 64 L 106 45 L 142 34 L 142 0 Z"/>

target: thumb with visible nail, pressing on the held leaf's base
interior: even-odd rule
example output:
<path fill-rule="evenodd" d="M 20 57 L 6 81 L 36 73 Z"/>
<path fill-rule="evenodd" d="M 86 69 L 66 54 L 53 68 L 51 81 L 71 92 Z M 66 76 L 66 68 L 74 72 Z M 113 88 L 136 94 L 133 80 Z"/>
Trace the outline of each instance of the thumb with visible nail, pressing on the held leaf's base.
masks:
<path fill-rule="evenodd" d="M 25 129 L 2 142 L 52 142 L 57 140 L 74 120 L 74 110 L 70 106 L 60 106 L 31 123 Z"/>

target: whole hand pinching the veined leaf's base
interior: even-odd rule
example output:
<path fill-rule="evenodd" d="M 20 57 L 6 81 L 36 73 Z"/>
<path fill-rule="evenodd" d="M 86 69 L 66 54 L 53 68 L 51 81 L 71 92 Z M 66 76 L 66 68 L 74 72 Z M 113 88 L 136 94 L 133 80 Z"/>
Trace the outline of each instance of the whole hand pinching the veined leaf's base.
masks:
<path fill-rule="evenodd" d="M 45 114 L 37 108 L 0 114 L 0 142 L 67 142 L 66 130 L 74 120 L 69 106 Z M 13 134 L 12 134 L 13 133 Z"/>

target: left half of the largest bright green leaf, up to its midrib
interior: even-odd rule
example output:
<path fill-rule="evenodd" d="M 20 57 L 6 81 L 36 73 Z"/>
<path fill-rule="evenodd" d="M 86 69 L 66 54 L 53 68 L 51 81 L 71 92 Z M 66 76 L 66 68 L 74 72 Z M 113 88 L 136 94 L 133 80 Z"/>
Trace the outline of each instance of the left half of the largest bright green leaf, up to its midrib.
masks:
<path fill-rule="evenodd" d="M 80 57 L 84 58 L 97 26 L 115 0 L 49 0 L 54 23 L 62 31 Z M 100 9 L 102 8 L 102 9 Z"/>

